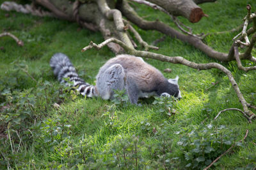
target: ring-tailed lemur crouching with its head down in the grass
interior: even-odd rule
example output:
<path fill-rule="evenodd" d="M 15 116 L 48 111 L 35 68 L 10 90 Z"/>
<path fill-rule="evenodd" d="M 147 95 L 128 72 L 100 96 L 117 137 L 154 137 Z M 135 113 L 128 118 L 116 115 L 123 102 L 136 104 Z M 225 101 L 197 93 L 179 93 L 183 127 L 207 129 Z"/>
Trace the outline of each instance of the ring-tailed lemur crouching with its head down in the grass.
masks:
<path fill-rule="evenodd" d="M 90 85 L 79 78 L 75 67 L 67 55 L 56 53 L 52 56 L 50 66 L 61 83 L 70 78 L 73 86 L 87 97 L 100 96 L 112 99 L 113 90 L 126 90 L 131 103 L 137 104 L 139 97 L 174 96 L 181 98 L 178 85 L 179 76 L 166 79 L 155 67 L 147 64 L 141 57 L 117 55 L 109 59 L 96 76 L 96 85 Z"/>

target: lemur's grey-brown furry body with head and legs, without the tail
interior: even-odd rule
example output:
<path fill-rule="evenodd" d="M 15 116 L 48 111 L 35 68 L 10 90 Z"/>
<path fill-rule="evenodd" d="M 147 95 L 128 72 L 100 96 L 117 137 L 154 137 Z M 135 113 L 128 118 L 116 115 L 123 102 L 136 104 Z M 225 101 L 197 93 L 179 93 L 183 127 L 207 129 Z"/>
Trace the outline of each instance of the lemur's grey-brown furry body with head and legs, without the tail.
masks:
<path fill-rule="evenodd" d="M 121 71 L 120 73 L 122 74 L 113 76 L 113 73 L 118 72 L 113 67 L 116 64 L 119 66 L 118 69 L 120 69 L 120 66 L 123 68 L 124 73 Z M 108 74 L 107 72 L 110 68 L 111 71 L 109 73 L 111 74 Z M 113 84 L 115 84 L 113 87 L 115 88 L 109 88 L 111 87 L 109 80 L 112 81 L 112 79 L 119 80 L 113 81 Z M 106 64 L 100 67 L 96 80 L 99 96 L 109 94 L 103 95 L 104 99 L 109 99 L 113 96 L 113 89 L 125 89 L 131 103 L 138 103 L 138 98 L 140 97 L 161 96 L 163 93 L 181 97 L 178 76 L 175 79 L 167 80 L 158 69 L 147 64 L 141 57 L 132 55 L 117 55 L 115 58 L 109 59 Z"/>

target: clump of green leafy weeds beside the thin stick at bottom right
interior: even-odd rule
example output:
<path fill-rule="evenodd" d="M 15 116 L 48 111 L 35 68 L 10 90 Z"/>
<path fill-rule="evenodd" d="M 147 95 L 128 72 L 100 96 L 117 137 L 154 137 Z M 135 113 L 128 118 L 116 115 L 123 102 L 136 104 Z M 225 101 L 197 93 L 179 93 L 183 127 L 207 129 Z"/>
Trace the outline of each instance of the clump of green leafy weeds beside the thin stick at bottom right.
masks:
<path fill-rule="evenodd" d="M 231 145 L 243 146 L 243 143 L 236 141 L 237 131 L 228 129 L 225 125 L 184 127 L 176 134 L 180 136 L 177 146 L 182 151 L 180 159 L 186 162 L 186 169 L 202 169 Z"/>

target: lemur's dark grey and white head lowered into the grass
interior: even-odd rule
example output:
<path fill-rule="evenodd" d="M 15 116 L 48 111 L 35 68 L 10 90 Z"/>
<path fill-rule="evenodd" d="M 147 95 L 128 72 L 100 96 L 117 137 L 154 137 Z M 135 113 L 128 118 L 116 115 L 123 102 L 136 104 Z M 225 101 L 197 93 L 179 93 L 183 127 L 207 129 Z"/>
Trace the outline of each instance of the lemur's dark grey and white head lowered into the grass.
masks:
<path fill-rule="evenodd" d="M 161 94 L 161 96 L 174 96 L 178 99 L 181 98 L 180 89 L 178 85 L 179 76 L 176 76 L 176 78 L 170 78 L 168 79 L 168 85 L 165 89 L 165 92 Z"/>

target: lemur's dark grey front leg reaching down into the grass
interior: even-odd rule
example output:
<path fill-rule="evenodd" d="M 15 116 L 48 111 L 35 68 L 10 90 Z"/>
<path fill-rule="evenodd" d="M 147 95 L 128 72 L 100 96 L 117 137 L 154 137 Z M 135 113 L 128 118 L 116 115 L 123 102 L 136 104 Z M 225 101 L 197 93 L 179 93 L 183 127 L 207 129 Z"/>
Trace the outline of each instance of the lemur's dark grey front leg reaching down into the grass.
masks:
<path fill-rule="evenodd" d="M 129 96 L 129 99 L 130 99 L 131 103 L 132 104 L 137 104 L 140 90 L 138 89 L 136 83 L 134 83 L 132 78 L 127 77 L 126 89 L 127 89 L 127 94 Z"/>

